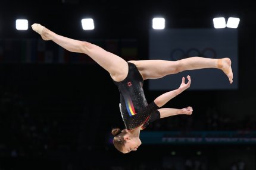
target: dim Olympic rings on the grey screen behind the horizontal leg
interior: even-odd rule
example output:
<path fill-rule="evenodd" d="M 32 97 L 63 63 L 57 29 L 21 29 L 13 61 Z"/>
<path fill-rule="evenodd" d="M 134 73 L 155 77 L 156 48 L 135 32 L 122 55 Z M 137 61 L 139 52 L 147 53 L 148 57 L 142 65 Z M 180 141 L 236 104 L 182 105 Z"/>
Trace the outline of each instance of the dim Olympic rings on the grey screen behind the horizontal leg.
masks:
<path fill-rule="evenodd" d="M 193 56 L 216 59 L 217 53 L 212 48 L 205 48 L 203 50 L 191 48 L 186 51 L 180 48 L 176 48 L 171 50 L 171 54 L 170 54 L 171 60 L 174 60 L 174 61 L 185 59 L 188 57 L 193 57 Z"/>

